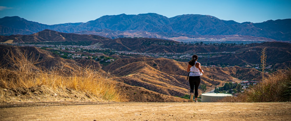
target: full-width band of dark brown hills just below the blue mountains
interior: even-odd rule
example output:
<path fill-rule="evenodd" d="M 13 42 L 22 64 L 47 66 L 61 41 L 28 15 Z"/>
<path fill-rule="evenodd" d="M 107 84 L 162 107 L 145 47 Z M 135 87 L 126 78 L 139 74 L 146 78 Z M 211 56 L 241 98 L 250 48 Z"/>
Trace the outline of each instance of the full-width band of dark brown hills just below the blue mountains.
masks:
<path fill-rule="evenodd" d="M 154 38 L 118 38 L 109 39 L 97 35 L 72 34 L 43 30 L 31 35 L 0 36 L 0 42 L 25 42 L 47 44 L 48 42 L 86 43 L 91 46 L 100 46 L 115 51 L 139 52 L 139 53 L 168 53 L 198 54 L 203 65 L 229 65 L 229 66 L 255 66 L 260 64 L 261 49 L 267 47 L 267 65 L 273 65 L 273 69 L 282 69 L 291 64 L 290 43 L 264 42 L 242 44 L 198 44 L 180 43 L 172 40 Z M 58 43 L 61 44 L 61 43 Z M 146 54 L 145 54 L 146 55 Z M 114 56 L 114 55 L 111 55 Z M 131 55 L 132 56 L 132 55 Z M 117 57 L 119 58 L 119 57 Z M 177 60 L 180 58 L 177 58 Z M 180 60 L 180 61 L 189 61 Z"/>

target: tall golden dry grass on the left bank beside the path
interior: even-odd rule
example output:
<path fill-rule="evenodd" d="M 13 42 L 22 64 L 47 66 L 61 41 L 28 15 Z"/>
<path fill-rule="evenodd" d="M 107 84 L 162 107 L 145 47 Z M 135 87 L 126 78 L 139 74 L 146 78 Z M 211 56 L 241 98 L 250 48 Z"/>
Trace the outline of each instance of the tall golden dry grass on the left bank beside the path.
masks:
<path fill-rule="evenodd" d="M 0 100 L 126 101 L 109 73 L 92 67 L 64 64 L 51 69 L 36 67 L 33 54 L 8 51 L 10 67 L 0 68 Z M 31 59 L 28 59 L 31 58 Z"/>

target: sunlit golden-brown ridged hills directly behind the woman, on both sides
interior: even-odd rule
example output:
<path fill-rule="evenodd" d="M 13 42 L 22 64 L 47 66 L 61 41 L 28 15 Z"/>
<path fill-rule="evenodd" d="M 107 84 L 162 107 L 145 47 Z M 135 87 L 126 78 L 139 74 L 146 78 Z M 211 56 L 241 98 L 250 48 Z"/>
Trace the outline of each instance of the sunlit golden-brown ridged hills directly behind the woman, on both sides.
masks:
<path fill-rule="evenodd" d="M 143 87 L 169 96 L 188 94 L 187 63 L 166 58 L 125 58 L 102 68 L 118 77 L 119 82 Z M 242 67 L 202 67 L 205 74 L 201 84 L 210 87 L 222 86 L 226 82 L 260 80 L 261 72 Z M 199 92 L 201 93 L 201 91 Z"/>

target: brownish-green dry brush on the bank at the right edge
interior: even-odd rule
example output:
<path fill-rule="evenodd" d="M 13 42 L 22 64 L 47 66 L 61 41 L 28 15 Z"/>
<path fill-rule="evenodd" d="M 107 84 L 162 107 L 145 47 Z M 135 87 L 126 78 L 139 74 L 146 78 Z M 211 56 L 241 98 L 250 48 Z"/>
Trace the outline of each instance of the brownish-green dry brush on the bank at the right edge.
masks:
<path fill-rule="evenodd" d="M 291 101 L 291 69 L 279 70 L 264 81 L 248 88 L 237 97 L 226 97 L 220 102 L 285 102 Z"/>

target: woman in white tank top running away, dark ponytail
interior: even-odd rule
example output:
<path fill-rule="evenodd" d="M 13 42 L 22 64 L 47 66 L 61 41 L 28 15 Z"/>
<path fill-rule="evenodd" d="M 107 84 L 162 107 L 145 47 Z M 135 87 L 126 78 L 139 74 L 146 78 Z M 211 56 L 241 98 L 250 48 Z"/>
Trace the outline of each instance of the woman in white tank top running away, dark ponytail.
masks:
<path fill-rule="evenodd" d="M 187 72 L 189 76 L 189 84 L 190 84 L 190 102 L 193 102 L 193 93 L 194 93 L 194 87 L 195 87 L 195 102 L 197 102 L 198 97 L 198 87 L 200 85 L 200 74 L 204 74 L 204 71 L 201 69 L 200 63 L 197 62 L 198 56 L 193 55 L 192 60 L 190 60 L 187 67 Z M 187 77 L 188 79 L 188 77 Z"/>

